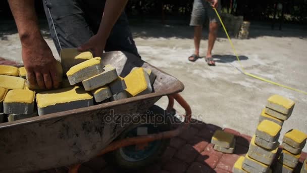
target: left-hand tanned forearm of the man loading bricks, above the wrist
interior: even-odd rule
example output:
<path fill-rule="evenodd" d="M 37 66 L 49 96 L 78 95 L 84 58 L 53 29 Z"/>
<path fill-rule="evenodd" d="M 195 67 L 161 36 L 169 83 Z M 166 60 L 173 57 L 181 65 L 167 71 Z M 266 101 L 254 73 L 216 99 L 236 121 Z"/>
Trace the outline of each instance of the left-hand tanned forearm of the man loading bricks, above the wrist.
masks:
<path fill-rule="evenodd" d="M 34 0 L 9 0 L 22 46 L 41 39 L 38 20 L 35 13 Z"/>

